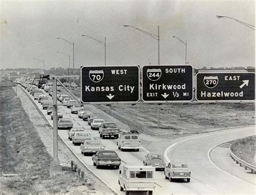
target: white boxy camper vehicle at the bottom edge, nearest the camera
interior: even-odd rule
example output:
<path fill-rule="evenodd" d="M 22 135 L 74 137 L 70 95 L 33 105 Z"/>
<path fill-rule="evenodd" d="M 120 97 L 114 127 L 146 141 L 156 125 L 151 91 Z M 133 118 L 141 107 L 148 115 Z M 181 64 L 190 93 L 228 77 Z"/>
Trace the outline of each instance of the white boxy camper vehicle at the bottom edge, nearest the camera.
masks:
<path fill-rule="evenodd" d="M 153 194 L 156 180 L 156 169 L 152 166 L 124 165 L 119 170 L 118 184 L 120 191 L 147 191 Z"/>

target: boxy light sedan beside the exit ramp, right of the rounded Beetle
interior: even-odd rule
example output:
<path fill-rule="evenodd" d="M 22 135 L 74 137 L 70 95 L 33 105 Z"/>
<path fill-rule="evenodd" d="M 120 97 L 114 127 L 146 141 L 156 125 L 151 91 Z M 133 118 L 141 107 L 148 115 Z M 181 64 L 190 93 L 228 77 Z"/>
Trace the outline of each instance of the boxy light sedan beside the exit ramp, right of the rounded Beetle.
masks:
<path fill-rule="evenodd" d="M 173 182 L 174 179 L 186 179 L 190 182 L 191 171 L 185 163 L 169 163 L 164 170 L 165 179 Z"/>

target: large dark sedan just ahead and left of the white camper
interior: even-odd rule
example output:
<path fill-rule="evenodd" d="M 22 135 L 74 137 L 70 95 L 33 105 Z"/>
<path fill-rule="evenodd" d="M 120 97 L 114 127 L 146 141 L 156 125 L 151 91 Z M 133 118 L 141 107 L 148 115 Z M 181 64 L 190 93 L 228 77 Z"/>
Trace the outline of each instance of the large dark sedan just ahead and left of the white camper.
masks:
<path fill-rule="evenodd" d="M 116 169 L 119 169 L 121 164 L 121 159 L 113 150 L 98 151 L 92 156 L 92 161 L 96 169 L 99 169 L 100 166 L 114 166 Z"/>

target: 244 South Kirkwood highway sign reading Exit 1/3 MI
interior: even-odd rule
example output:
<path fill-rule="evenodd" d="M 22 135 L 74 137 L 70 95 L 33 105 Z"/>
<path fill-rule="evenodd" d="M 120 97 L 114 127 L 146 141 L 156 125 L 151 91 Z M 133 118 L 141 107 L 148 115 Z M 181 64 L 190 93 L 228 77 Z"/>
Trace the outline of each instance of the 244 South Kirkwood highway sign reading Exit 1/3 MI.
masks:
<path fill-rule="evenodd" d="M 142 67 L 144 102 L 188 102 L 193 100 L 191 65 L 154 65 Z"/>

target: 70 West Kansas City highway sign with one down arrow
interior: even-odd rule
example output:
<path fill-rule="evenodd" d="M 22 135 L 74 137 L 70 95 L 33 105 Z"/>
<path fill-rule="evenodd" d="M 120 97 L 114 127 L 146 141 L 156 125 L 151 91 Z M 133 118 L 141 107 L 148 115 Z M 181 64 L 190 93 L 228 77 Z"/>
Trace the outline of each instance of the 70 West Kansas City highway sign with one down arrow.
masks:
<path fill-rule="evenodd" d="M 81 67 L 81 101 L 83 103 L 139 101 L 139 67 Z"/>

